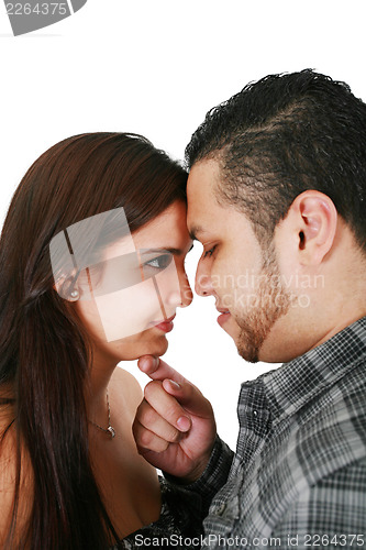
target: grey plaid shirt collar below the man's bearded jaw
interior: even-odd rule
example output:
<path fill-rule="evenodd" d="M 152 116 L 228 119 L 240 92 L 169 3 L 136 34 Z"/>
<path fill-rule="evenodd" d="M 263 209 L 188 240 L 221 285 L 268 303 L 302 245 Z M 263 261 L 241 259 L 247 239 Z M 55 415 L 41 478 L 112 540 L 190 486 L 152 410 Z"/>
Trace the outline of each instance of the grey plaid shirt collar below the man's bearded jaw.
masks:
<path fill-rule="evenodd" d="M 365 358 L 366 317 L 300 358 L 259 376 L 273 421 L 279 421 L 284 415 L 293 415 Z"/>

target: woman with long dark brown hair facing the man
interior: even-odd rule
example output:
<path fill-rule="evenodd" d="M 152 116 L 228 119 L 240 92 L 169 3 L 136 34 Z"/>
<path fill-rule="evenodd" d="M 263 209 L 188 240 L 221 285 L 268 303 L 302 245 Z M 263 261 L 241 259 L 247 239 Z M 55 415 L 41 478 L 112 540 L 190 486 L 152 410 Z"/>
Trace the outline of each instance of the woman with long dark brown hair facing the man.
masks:
<path fill-rule="evenodd" d="M 115 366 L 164 354 L 191 301 L 186 179 L 144 138 L 95 133 L 18 187 L 0 242 L 1 548 L 106 549 L 158 525 L 131 432 L 141 389 Z"/>

